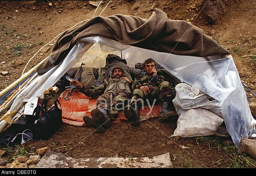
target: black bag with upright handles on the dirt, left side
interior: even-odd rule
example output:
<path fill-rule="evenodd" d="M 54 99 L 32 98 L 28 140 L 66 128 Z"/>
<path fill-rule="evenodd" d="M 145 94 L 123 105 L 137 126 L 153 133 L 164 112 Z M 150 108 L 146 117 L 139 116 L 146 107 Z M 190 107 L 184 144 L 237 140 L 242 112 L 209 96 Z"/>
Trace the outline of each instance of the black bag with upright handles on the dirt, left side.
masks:
<path fill-rule="evenodd" d="M 47 99 L 44 99 L 41 107 L 36 107 L 34 110 L 36 116 L 39 117 L 34 122 L 35 139 L 47 140 L 60 128 L 62 124 L 62 109 L 61 105 L 60 108 L 58 108 L 57 103 L 60 105 L 60 102 L 55 100 L 54 106 L 47 110 Z M 40 109 L 40 111 L 38 111 L 38 109 Z"/>

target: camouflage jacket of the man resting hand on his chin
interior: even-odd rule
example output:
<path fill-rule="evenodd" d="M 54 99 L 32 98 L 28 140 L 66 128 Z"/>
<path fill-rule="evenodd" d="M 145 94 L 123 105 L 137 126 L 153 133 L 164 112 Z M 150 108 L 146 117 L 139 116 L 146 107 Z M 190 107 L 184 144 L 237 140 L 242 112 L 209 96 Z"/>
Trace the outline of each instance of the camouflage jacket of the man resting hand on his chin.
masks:
<path fill-rule="evenodd" d="M 143 73 L 143 71 L 142 71 Z M 160 83 L 166 81 L 163 76 L 155 75 L 154 77 L 152 74 L 148 74 L 144 72 L 143 74 L 138 75 L 132 83 L 132 90 L 140 89 L 141 86 L 148 86 L 150 91 L 154 91 Z"/>

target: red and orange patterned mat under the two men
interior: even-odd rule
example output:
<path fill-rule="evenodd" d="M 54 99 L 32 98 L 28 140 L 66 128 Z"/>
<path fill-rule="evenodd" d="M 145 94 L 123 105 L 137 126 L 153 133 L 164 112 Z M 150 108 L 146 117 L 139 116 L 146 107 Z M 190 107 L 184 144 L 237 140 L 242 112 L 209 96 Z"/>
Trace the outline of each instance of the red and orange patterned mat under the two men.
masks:
<path fill-rule="evenodd" d="M 69 89 L 62 92 L 58 100 L 62 107 L 62 122 L 68 125 L 83 127 L 86 124 L 83 121 L 83 116 L 91 116 L 91 111 L 96 109 L 97 98 L 90 98 L 79 91 L 72 91 L 70 100 L 65 100 L 64 98 L 68 96 Z M 161 109 L 161 104 L 155 105 L 150 112 L 150 107 L 144 106 L 140 110 L 140 121 L 151 119 L 159 116 L 159 111 Z M 112 123 L 120 123 L 127 121 L 124 117 L 123 111 L 119 112 L 118 117 Z"/>

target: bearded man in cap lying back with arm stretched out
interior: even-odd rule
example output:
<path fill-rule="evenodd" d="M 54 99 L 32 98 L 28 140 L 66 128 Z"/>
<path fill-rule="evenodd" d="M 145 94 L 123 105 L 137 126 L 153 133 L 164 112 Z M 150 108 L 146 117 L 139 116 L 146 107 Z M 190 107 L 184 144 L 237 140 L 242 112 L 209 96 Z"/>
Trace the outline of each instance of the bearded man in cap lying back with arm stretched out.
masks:
<path fill-rule="evenodd" d="M 88 97 L 100 95 L 97 99 L 96 109 L 91 111 L 92 118 L 89 116 L 83 117 L 84 123 L 95 128 L 97 132 L 104 132 L 104 127 L 108 127 L 117 118 L 119 111 L 124 109 L 132 93 L 132 80 L 124 77 L 123 67 L 120 65 L 114 66 L 112 77 L 94 89 L 85 87 L 79 81 L 71 81 L 72 85 Z"/>

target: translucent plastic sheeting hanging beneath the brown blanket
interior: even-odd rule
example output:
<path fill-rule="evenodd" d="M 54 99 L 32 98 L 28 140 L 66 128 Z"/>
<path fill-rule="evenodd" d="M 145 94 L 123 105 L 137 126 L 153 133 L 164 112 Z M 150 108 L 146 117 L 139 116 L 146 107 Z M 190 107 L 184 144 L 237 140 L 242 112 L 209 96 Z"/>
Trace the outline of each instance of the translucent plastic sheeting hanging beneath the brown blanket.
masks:
<path fill-rule="evenodd" d="M 114 52 L 116 54 L 116 51 L 119 51 L 119 56 L 126 59 L 128 66 L 132 67 L 135 63 L 143 62 L 151 57 L 182 82 L 188 83 L 214 97 L 222 104 L 222 113 L 227 130 L 239 151 L 241 151 L 240 139 L 248 138 L 256 132 L 255 120 L 250 113 L 246 94 L 232 55 L 214 55 L 210 57 L 174 55 L 122 45 L 119 42 L 100 36 L 79 40 L 59 65 L 37 77 L 23 90 L 20 96 L 15 99 L 9 111 L 12 112 L 22 102 L 28 102 L 34 97 L 42 96 L 46 89 L 54 85 L 70 67 L 82 58 L 93 43 L 100 44 L 102 52 L 108 51 L 108 53 Z M 104 54 L 102 54 L 103 56 Z M 94 61 L 91 63 L 88 67 L 96 64 Z M 97 61 L 97 63 L 104 64 L 103 61 Z M 80 65 L 80 63 L 78 64 Z"/>

